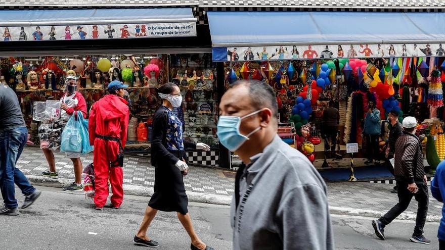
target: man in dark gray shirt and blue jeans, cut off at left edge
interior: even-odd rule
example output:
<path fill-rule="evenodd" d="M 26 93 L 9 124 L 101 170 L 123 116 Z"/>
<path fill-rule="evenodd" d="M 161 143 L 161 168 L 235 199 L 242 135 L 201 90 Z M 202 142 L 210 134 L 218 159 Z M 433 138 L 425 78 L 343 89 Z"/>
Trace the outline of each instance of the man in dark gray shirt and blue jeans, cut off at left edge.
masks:
<path fill-rule="evenodd" d="M 25 195 L 22 209 L 31 206 L 40 196 L 41 191 L 35 189 L 16 168 L 28 140 L 28 130 L 20 110 L 19 100 L 15 92 L 6 85 L 0 85 L 0 190 L 4 206 L 0 215 L 19 215 L 14 183 Z"/>

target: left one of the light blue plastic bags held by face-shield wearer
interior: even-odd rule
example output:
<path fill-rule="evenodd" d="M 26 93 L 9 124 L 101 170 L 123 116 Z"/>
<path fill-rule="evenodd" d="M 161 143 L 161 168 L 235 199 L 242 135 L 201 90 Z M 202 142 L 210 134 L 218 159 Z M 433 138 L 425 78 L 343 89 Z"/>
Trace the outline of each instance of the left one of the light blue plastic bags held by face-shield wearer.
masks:
<path fill-rule="evenodd" d="M 78 117 L 78 116 L 77 116 Z M 82 152 L 81 122 L 72 115 L 62 131 L 60 151 L 70 153 Z"/>

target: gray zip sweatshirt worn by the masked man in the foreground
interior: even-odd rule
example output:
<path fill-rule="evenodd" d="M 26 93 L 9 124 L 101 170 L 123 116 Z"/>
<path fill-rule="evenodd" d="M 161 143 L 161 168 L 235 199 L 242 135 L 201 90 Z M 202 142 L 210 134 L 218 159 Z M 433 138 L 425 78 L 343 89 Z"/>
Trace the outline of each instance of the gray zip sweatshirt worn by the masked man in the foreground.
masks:
<path fill-rule="evenodd" d="M 309 160 L 278 135 L 252 160 L 232 201 L 234 249 L 334 249 L 326 185 Z"/>

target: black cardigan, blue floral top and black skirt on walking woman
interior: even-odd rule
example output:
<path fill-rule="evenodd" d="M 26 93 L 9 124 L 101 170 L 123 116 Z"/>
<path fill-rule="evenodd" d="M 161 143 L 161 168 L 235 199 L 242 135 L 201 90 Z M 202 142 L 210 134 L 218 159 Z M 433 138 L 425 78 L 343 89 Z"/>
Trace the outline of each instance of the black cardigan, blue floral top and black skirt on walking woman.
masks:
<path fill-rule="evenodd" d="M 183 140 L 182 122 L 173 110 L 161 106 L 153 119 L 151 164 L 155 167 L 154 194 L 148 205 L 165 212 L 188 213 L 184 177 L 175 166 L 186 161 L 184 147 L 196 144 Z"/>

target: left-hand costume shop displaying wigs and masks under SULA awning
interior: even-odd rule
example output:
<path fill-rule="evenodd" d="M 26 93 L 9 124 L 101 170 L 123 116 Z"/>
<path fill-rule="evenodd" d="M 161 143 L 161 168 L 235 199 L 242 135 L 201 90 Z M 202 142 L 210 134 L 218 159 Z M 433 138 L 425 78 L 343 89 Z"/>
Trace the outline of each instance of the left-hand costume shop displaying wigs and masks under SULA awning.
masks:
<path fill-rule="evenodd" d="M 36 103 L 58 100 L 72 74 L 88 110 L 110 81 L 130 86 L 125 151 L 147 155 L 157 88 L 170 81 L 183 92 L 185 139 L 212 148 L 190 151 L 190 162 L 218 166 L 216 72 L 209 36 L 192 8 L 2 10 L 0 16 L 0 80 L 15 89 L 34 145 L 51 116 Z"/>

